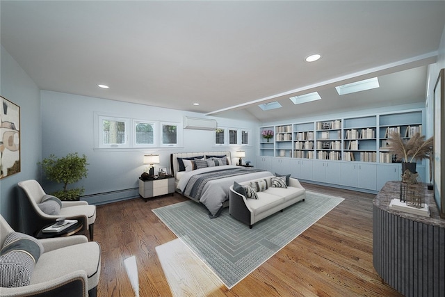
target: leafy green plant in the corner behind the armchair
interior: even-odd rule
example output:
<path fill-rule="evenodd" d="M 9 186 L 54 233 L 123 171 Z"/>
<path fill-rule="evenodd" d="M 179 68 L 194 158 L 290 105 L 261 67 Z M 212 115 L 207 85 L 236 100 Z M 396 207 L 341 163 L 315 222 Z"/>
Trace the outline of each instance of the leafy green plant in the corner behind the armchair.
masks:
<path fill-rule="evenodd" d="M 83 177 L 87 177 L 88 169 L 86 155 L 79 156 L 76 152 L 67 154 L 63 158 L 58 158 L 54 154 L 49 155 L 49 158 L 43 159 L 42 169 L 47 179 L 63 184 L 63 189 L 51 193 L 60 200 L 79 200 L 85 189 L 70 188 L 68 184 L 74 184 Z"/>

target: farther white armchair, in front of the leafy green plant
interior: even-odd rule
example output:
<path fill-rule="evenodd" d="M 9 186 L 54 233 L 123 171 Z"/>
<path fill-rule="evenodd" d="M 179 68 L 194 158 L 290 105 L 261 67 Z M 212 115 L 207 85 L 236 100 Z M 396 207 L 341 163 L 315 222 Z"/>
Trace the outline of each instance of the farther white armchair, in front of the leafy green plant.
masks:
<path fill-rule="evenodd" d="M 40 216 L 40 218 L 46 220 L 48 223 L 54 223 L 56 218 L 83 220 L 83 226 L 89 230 L 90 240 L 93 240 L 94 223 L 96 220 L 95 205 L 88 204 L 86 201 L 62 201 L 62 205 L 60 210 L 57 211 L 57 214 L 45 214 L 39 207 L 42 198 L 46 195 L 42 186 L 40 186 L 36 180 L 29 179 L 19 182 L 19 187 L 24 190 L 35 214 Z"/>

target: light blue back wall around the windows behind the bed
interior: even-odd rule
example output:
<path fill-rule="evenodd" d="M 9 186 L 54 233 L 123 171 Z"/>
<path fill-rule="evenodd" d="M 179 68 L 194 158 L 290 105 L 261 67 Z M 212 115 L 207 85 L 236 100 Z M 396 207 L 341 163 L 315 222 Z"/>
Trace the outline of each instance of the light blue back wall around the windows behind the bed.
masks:
<path fill-rule="evenodd" d="M 161 163 L 156 166 L 170 168 L 170 153 L 200 152 L 214 150 L 238 150 L 239 147 L 215 147 L 213 131 L 184 129 L 184 147 L 158 148 L 151 150 L 124 150 L 120 152 L 104 152 L 94 150 L 94 113 L 134 118 L 138 120 L 160 120 L 182 122 L 188 115 L 203 118 L 200 113 L 191 113 L 174 109 L 163 109 L 141 104 L 129 104 L 108 99 L 85 97 L 67 93 L 42 90 L 42 158 L 49 154 L 65 156 L 70 152 L 78 152 L 88 156 L 88 177 L 74 186 L 83 186 L 86 200 L 95 204 L 110 202 L 122 198 L 134 198 L 138 195 L 138 177 L 145 170 L 142 163 L 143 155 L 156 153 Z M 258 123 L 246 120 L 229 120 L 216 118 L 220 127 L 251 129 L 251 143 L 258 143 L 256 133 Z M 248 159 L 254 161 L 256 147 L 245 147 Z M 60 185 L 43 181 L 45 191 L 60 189 Z M 127 190 L 127 191 L 122 191 Z M 122 191 L 119 193 L 108 193 Z M 96 195 L 107 193 L 106 195 Z M 93 195 L 88 197 L 88 195 Z"/>

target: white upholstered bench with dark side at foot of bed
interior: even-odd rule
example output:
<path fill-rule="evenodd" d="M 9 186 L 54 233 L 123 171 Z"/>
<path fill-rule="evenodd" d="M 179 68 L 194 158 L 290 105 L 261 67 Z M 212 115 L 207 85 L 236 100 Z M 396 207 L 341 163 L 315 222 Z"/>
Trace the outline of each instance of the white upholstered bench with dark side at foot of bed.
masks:
<path fill-rule="evenodd" d="M 298 182 L 298 179 L 289 179 L 287 188 L 275 188 L 271 186 L 270 179 L 266 177 L 268 189 L 257 192 L 258 199 L 246 198 L 230 186 L 229 214 L 252 228 L 254 223 L 266 218 L 277 211 L 282 211 L 306 198 L 306 190 Z M 255 179 L 257 180 L 257 179 Z M 249 185 L 250 182 L 241 182 L 241 185 Z"/>

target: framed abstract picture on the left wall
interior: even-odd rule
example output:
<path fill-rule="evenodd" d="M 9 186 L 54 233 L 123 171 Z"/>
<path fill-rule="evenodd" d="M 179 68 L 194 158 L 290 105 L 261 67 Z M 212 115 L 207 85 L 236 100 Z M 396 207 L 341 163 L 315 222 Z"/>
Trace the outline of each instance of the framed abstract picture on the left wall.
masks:
<path fill-rule="evenodd" d="M 20 172 L 20 107 L 1 97 L 0 179 Z"/>

